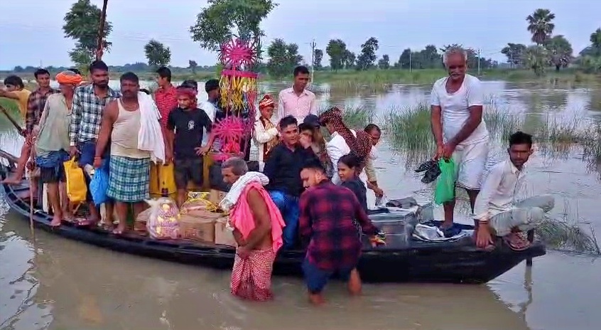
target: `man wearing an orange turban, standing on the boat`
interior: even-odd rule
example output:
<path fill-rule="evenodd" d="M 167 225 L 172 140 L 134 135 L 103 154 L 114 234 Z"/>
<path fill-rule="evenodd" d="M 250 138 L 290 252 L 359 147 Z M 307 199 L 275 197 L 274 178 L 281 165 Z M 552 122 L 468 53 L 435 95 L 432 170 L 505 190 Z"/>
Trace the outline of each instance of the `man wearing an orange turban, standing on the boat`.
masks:
<path fill-rule="evenodd" d="M 48 199 L 54 210 L 50 225 L 59 226 L 62 220 L 70 220 L 66 197 L 60 200 L 59 186 L 65 188 L 63 161 L 69 159 L 69 125 L 71 105 L 75 87 L 82 82 L 82 76 L 72 71 L 56 75 L 60 94 L 48 96 L 40 123 L 33 129 L 36 165 L 40 168 L 40 180 L 48 183 Z M 63 191 L 63 196 L 67 196 Z"/>

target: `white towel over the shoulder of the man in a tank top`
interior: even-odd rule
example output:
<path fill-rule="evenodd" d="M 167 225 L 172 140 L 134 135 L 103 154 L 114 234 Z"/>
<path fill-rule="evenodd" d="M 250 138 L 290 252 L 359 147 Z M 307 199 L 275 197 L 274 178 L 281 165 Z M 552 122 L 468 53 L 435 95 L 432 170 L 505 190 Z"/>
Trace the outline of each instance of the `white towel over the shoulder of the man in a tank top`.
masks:
<path fill-rule="evenodd" d="M 151 95 L 138 92 L 140 104 L 140 132 L 138 133 L 138 149 L 150 151 L 151 161 L 165 161 L 165 141 L 161 124 L 161 114 Z"/>

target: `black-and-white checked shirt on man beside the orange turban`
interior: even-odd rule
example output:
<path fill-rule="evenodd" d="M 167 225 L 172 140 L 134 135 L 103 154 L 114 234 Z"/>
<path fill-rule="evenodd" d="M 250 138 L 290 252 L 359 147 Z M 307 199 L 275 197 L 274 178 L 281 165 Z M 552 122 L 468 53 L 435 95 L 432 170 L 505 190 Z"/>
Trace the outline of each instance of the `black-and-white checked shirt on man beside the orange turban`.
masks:
<path fill-rule="evenodd" d="M 76 146 L 77 142 L 87 142 L 98 138 L 104 106 L 119 97 L 121 97 L 121 92 L 110 87 L 107 96 L 103 98 L 94 94 L 94 85 L 81 86 L 75 89 L 69 129 L 69 144 L 71 147 Z"/>

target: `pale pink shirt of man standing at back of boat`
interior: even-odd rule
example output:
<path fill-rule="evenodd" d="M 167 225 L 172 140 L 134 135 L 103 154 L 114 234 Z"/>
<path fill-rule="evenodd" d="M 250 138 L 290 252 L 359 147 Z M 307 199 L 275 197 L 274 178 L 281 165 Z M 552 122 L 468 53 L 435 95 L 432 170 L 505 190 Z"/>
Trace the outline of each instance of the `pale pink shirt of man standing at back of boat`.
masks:
<path fill-rule="evenodd" d="M 278 95 L 278 121 L 292 115 L 300 124 L 309 114 L 318 114 L 317 100 L 315 100 L 313 92 L 303 90 L 301 96 L 296 96 L 292 87 L 280 92 Z"/>

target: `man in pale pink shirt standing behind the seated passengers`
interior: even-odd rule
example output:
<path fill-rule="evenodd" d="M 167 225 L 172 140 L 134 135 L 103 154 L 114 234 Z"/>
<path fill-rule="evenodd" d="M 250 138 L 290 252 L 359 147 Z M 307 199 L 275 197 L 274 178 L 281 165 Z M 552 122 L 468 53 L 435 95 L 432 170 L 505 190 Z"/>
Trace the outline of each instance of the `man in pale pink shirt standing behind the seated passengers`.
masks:
<path fill-rule="evenodd" d="M 309 82 L 309 69 L 304 65 L 294 68 L 294 85 L 282 90 L 278 95 L 278 120 L 286 116 L 293 116 L 297 122 L 309 114 L 318 114 L 318 105 L 315 94 L 305 90 Z"/>

